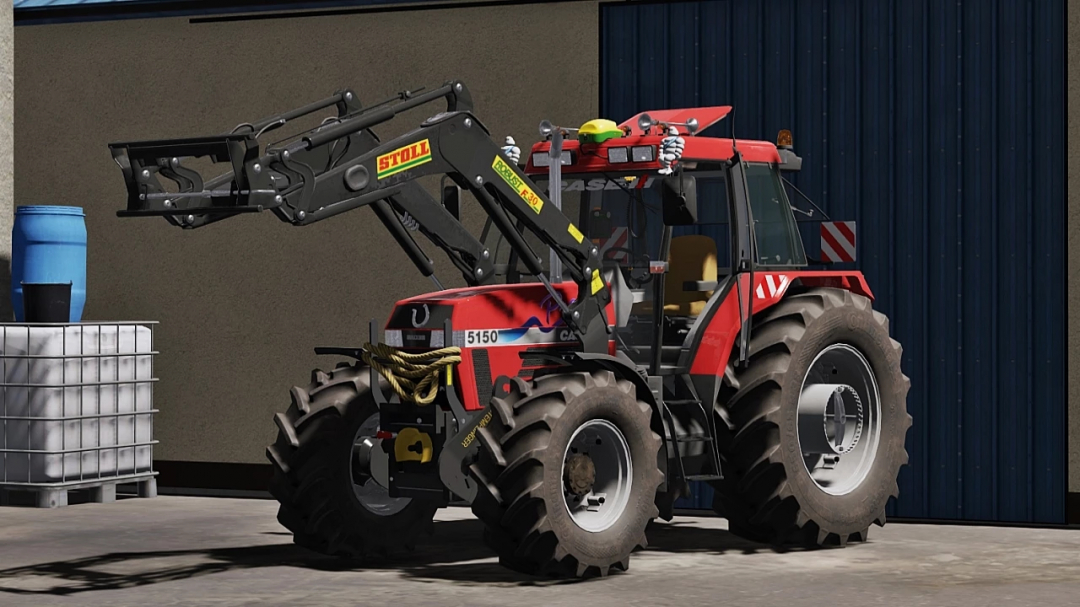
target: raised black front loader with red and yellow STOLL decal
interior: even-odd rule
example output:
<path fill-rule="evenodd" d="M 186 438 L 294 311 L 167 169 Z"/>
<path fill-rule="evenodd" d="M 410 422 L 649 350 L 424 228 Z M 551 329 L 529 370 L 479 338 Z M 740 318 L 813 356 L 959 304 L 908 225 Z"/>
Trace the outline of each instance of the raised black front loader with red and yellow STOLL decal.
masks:
<path fill-rule="evenodd" d="M 438 99 L 446 100 L 446 111 L 415 131 L 383 143 L 370 130 Z M 337 106 L 336 118 L 287 143 L 260 149 L 258 138 L 265 133 L 330 106 Z M 232 215 L 271 211 L 282 221 L 307 226 L 372 206 L 423 275 L 434 279 L 434 266 L 403 225 L 404 215 L 447 254 L 468 284 L 487 283 L 496 273 L 491 252 L 416 181 L 449 176 L 457 187 L 472 192 L 516 257 L 544 284 L 585 351 L 607 352 L 604 308 L 611 296 L 599 275 L 596 246 L 491 139 L 473 116 L 472 98 L 462 82 L 450 81 L 422 94 L 406 91 L 367 108 L 345 90 L 222 135 L 118 143 L 109 148 L 127 187 L 127 208 L 117 213 L 121 217 L 163 216 L 174 226 L 194 229 Z M 204 180 L 183 165 L 185 158 L 201 157 L 228 162 L 231 171 Z M 159 177 L 172 180 L 176 189 L 166 190 Z M 542 258 L 529 247 L 522 228 L 565 265 L 579 287 L 572 304 L 551 286 Z"/>

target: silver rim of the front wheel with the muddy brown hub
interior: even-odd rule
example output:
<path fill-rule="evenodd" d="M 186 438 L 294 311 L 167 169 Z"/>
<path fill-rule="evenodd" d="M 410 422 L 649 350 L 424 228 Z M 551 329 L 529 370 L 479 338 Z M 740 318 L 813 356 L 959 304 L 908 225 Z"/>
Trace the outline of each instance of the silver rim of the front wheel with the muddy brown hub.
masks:
<path fill-rule="evenodd" d="M 576 455 L 588 456 L 595 469 L 591 489 L 581 496 L 570 491 L 562 481 L 567 461 Z M 633 484 L 633 464 L 626 439 L 606 419 L 586 421 L 570 436 L 563 454 L 559 478 L 563 503 L 575 524 L 594 534 L 615 525 L 626 510 Z"/>

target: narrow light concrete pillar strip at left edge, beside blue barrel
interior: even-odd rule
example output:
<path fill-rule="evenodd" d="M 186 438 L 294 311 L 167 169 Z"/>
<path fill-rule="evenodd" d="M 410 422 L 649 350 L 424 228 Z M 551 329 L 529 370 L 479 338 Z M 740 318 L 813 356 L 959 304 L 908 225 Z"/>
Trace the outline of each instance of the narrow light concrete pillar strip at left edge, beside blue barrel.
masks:
<path fill-rule="evenodd" d="M 11 311 L 11 228 L 15 221 L 13 22 L 12 0 L 0 0 L 0 322 L 14 320 Z"/>

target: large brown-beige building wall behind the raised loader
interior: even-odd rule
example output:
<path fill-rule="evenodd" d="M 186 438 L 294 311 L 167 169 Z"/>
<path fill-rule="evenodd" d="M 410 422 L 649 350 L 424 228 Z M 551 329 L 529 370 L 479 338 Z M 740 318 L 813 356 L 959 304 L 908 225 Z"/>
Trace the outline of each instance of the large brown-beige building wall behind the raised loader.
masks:
<path fill-rule="evenodd" d="M 119 219 L 108 143 L 218 133 L 342 86 L 370 103 L 461 78 L 492 134 L 525 147 L 541 119 L 595 118 L 596 36 L 593 2 L 19 27 L 15 191 L 19 204 L 86 208 L 87 320 L 161 321 L 156 458 L 265 462 L 288 388 L 334 364 L 311 349 L 363 343 L 369 318 L 431 283 L 368 210 L 306 228 L 270 214 L 195 231 Z M 402 134 L 444 108 L 377 131 Z"/>

